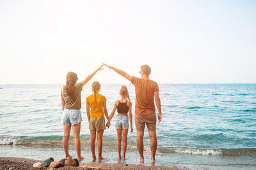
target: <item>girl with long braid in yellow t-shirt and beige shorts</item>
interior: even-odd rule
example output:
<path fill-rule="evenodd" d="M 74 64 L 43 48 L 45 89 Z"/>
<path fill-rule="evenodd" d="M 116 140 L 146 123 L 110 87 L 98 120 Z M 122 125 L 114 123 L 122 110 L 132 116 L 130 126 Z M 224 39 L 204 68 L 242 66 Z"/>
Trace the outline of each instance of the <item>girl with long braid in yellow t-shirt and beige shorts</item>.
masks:
<path fill-rule="evenodd" d="M 92 151 L 92 160 L 96 160 L 95 156 L 95 139 L 97 131 L 98 139 L 98 156 L 99 160 L 105 159 L 102 158 L 102 136 L 105 127 L 105 118 L 108 119 L 108 111 L 106 107 L 106 97 L 99 94 L 100 83 L 94 81 L 92 83 L 93 94 L 86 98 L 86 111 L 89 122 L 89 129 L 91 131 L 90 146 Z M 91 110 L 90 110 L 91 109 Z"/>

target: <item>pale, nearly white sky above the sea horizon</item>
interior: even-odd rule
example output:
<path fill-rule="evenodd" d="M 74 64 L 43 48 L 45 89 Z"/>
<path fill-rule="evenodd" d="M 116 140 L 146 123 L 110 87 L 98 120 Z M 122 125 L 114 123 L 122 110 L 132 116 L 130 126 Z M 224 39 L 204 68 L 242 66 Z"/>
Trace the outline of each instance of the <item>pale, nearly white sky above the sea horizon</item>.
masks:
<path fill-rule="evenodd" d="M 0 1 L 0 84 L 102 62 L 157 83 L 256 83 L 256 1 Z M 105 68 L 90 81 L 129 83 Z"/>

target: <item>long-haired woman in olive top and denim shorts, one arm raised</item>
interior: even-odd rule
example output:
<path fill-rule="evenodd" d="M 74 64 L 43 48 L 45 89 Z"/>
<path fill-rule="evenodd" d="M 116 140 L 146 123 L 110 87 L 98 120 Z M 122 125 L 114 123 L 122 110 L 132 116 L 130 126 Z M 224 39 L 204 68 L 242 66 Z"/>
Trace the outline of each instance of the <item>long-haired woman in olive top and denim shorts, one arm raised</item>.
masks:
<path fill-rule="evenodd" d="M 77 74 L 68 72 L 66 85 L 61 89 L 61 104 L 63 109 L 62 124 L 63 124 L 63 150 L 65 157 L 70 157 L 68 153 L 68 139 L 72 127 L 73 138 L 77 153 L 77 159 L 83 160 L 81 156 L 81 142 L 80 142 L 80 129 L 81 129 L 81 91 L 83 86 L 99 71 L 102 69 L 103 64 L 93 71 L 92 74 L 87 76 L 83 81 L 77 83 Z"/>

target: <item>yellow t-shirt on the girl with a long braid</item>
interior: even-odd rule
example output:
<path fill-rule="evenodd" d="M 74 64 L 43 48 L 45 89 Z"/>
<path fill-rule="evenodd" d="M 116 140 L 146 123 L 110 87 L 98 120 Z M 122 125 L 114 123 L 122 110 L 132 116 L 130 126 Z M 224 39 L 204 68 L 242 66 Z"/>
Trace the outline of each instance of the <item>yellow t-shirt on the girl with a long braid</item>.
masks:
<path fill-rule="evenodd" d="M 96 95 L 96 102 L 97 102 L 97 106 L 95 104 L 95 100 L 94 100 L 94 94 L 88 96 L 86 98 L 86 103 L 88 103 L 90 105 L 91 108 L 91 115 L 90 117 L 104 117 L 104 113 L 103 113 L 103 103 L 107 101 L 105 96 L 102 96 L 101 94 L 97 94 Z"/>

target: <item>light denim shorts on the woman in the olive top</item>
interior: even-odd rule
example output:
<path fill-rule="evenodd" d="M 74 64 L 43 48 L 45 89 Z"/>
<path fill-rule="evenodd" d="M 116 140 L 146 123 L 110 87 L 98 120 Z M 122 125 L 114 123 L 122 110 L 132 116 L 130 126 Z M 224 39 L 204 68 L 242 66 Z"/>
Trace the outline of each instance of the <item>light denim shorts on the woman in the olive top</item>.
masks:
<path fill-rule="evenodd" d="M 70 110 L 64 109 L 62 115 L 62 124 L 64 125 L 76 125 L 82 121 L 81 111 L 80 110 Z"/>

